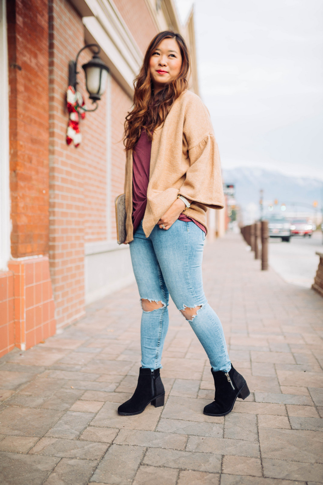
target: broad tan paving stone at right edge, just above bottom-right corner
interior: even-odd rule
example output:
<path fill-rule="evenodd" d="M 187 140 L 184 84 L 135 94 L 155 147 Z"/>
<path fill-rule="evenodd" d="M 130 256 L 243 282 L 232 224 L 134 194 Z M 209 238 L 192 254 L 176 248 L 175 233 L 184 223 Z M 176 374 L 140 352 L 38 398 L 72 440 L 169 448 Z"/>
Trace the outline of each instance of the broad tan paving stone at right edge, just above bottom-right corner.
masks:
<path fill-rule="evenodd" d="M 314 431 L 260 428 L 261 456 L 308 463 L 323 462 L 321 435 L 322 433 Z"/>

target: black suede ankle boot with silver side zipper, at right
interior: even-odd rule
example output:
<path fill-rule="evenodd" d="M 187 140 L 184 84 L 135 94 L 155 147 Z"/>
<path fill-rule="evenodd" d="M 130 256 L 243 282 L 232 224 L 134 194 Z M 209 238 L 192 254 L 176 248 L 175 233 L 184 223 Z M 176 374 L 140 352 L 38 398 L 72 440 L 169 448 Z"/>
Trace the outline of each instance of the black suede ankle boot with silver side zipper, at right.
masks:
<path fill-rule="evenodd" d="M 213 369 L 211 372 L 215 384 L 215 400 L 207 404 L 203 412 L 208 416 L 225 416 L 232 411 L 237 397 L 246 399 L 250 391 L 243 376 L 232 365 L 229 372 L 214 372 Z"/>

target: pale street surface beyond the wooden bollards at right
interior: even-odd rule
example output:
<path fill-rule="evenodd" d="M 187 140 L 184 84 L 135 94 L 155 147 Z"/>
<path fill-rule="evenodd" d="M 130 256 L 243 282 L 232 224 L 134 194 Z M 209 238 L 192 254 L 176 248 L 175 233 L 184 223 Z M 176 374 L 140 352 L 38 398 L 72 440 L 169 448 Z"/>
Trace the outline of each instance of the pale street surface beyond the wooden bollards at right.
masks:
<path fill-rule="evenodd" d="M 322 232 L 311 238 L 293 236 L 291 242 L 270 239 L 269 264 L 287 283 L 310 288 L 319 265 L 316 251 L 323 252 Z"/>

